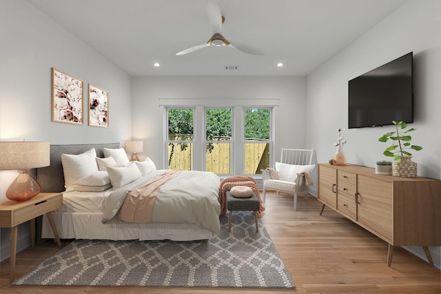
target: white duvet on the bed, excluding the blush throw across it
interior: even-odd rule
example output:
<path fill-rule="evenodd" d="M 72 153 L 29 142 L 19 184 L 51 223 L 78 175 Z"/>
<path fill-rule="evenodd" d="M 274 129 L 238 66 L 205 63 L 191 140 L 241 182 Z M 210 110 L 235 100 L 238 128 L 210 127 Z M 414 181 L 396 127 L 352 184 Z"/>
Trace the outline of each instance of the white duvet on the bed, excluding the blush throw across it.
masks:
<path fill-rule="evenodd" d="M 146 184 L 165 170 L 152 171 L 121 187 L 108 196 L 103 211 L 103 223 L 116 222 L 116 214 L 129 191 Z M 182 171 L 159 190 L 154 204 L 152 222 L 198 224 L 199 227 L 220 233 L 220 179 L 206 171 Z"/>

